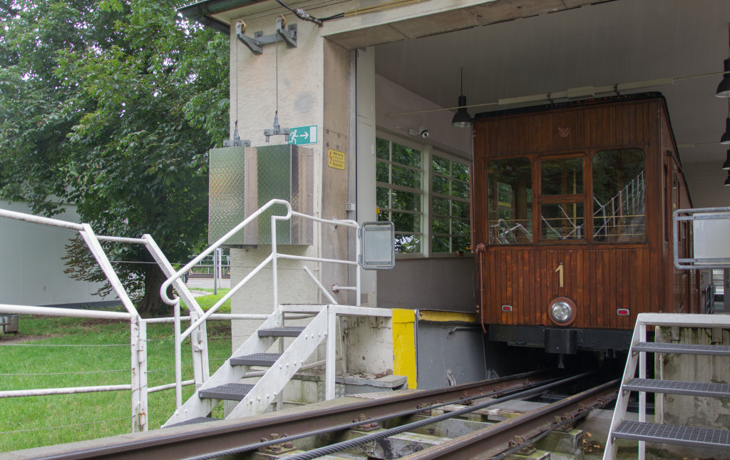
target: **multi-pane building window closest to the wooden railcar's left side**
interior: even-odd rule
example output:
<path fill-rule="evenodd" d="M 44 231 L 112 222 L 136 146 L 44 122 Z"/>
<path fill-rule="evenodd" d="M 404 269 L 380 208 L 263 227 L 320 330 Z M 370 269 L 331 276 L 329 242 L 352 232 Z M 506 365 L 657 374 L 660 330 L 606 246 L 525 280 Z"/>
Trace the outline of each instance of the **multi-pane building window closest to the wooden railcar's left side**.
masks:
<path fill-rule="evenodd" d="M 471 250 L 469 166 L 434 155 L 431 161 L 431 251 Z"/>

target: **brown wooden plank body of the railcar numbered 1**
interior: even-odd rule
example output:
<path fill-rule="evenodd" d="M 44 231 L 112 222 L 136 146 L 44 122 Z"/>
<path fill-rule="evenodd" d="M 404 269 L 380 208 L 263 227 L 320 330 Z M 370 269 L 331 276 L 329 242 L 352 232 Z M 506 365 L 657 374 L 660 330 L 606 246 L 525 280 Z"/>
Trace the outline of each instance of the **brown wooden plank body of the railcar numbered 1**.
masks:
<path fill-rule="evenodd" d="M 664 240 L 664 166 L 669 171 L 676 152 L 666 106 L 661 97 L 615 99 L 567 104 L 545 110 L 503 112 L 477 118 L 474 126 L 473 226 L 475 245 L 487 239 L 488 162 L 495 158 L 525 156 L 533 164 L 533 215 L 537 215 L 538 158 L 546 155 L 585 153 L 585 210 L 591 231 L 592 204 L 590 158 L 598 150 L 640 148 L 646 158 L 647 240 L 636 245 L 583 242 L 534 242 L 532 245 L 488 246 L 484 254 L 482 282 L 485 285 L 485 323 L 555 326 L 548 318 L 548 304 L 566 296 L 577 304 L 577 319 L 571 327 L 586 329 L 631 329 L 638 313 L 672 311 L 672 303 L 685 302 L 685 310 L 696 308 L 690 295 L 696 277 L 683 277 L 672 269 L 671 242 Z M 671 178 L 669 179 L 671 180 Z M 680 195 L 688 203 L 684 179 Z M 669 194 L 669 196 L 667 196 Z M 539 237 L 534 217 L 535 238 Z M 671 229 L 671 226 L 669 226 Z M 562 244 L 561 244 L 562 243 Z M 556 267 L 564 264 L 564 286 L 558 285 Z M 512 312 L 502 312 L 512 305 Z M 619 317 L 627 308 L 631 315 Z"/>

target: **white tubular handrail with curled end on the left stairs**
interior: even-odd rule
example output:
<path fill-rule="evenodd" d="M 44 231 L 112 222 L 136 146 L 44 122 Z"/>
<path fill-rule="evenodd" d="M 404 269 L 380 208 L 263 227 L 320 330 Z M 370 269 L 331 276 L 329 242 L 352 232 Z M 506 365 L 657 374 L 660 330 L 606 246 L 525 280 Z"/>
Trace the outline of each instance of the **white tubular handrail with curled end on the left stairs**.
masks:
<path fill-rule="evenodd" d="M 231 290 L 226 293 L 225 296 L 223 296 L 218 302 L 216 302 L 210 309 L 203 313 L 199 318 L 196 318 L 195 321 L 191 321 L 191 326 L 188 327 L 188 329 L 185 329 L 185 331 L 181 331 L 180 327 L 180 318 L 178 318 L 179 311 L 180 311 L 180 299 L 177 297 L 170 298 L 167 296 L 167 288 L 169 288 L 170 285 L 173 285 L 173 283 L 179 284 L 181 282 L 181 278 L 183 275 L 188 272 L 189 269 L 191 269 L 193 266 L 199 263 L 199 261 L 203 260 L 206 256 L 208 256 L 210 253 L 215 251 L 216 249 L 220 248 L 221 245 L 225 244 L 228 239 L 233 237 L 235 234 L 237 234 L 239 231 L 245 228 L 249 223 L 255 221 L 259 216 L 264 214 L 266 210 L 269 210 L 269 208 L 273 207 L 274 205 L 283 205 L 286 207 L 286 214 L 285 215 L 272 215 L 271 216 L 271 232 L 272 232 L 272 252 L 267 256 L 264 261 L 261 262 L 261 264 L 258 264 L 253 270 L 251 270 L 248 275 L 243 277 L 239 283 L 236 285 L 231 285 Z M 333 226 L 345 226 L 351 229 L 356 230 L 356 258 L 354 261 L 345 260 L 345 259 L 332 259 L 332 258 L 321 258 L 321 257 L 308 257 L 308 256 L 294 256 L 292 254 L 283 254 L 277 252 L 277 238 L 276 238 L 276 227 L 277 222 L 279 221 L 289 221 L 291 218 L 303 218 L 307 219 L 309 221 L 314 221 L 318 223 L 325 223 Z M 185 338 L 189 337 L 191 333 L 199 328 L 202 327 L 204 329 L 205 322 L 211 318 L 211 316 L 220 308 L 223 303 L 225 303 L 228 299 L 230 299 L 234 294 L 236 294 L 246 283 L 248 283 L 255 275 L 257 275 L 259 272 L 261 272 L 264 267 L 266 267 L 269 264 L 272 264 L 272 297 L 273 297 L 273 307 L 272 307 L 272 313 L 276 308 L 279 306 L 279 300 L 278 300 L 278 292 L 279 292 L 279 279 L 277 275 L 277 261 L 280 258 L 283 259 L 290 259 L 290 260 L 298 260 L 298 261 L 312 261 L 312 262 L 319 262 L 319 263 L 328 263 L 328 264 L 345 264 L 355 267 L 355 286 L 339 286 L 339 289 L 342 290 L 352 290 L 356 293 L 356 306 L 360 306 L 360 297 L 361 297 L 361 288 L 360 288 L 360 253 L 361 253 L 361 234 L 360 234 L 360 224 L 358 224 L 356 221 L 339 221 L 339 220 L 329 220 L 329 219 L 322 219 L 322 218 L 315 218 L 311 215 L 302 214 L 301 212 L 296 212 L 291 209 L 291 204 L 285 200 L 282 199 L 272 199 L 268 203 L 264 204 L 261 208 L 259 208 L 256 212 L 254 212 L 252 215 L 247 217 L 244 221 L 239 223 L 237 226 L 235 226 L 231 231 L 228 231 L 223 237 L 220 237 L 218 241 L 214 242 L 212 245 L 210 245 L 209 248 L 204 250 L 202 253 L 199 254 L 196 258 L 193 258 L 192 261 L 190 261 L 185 267 L 180 268 L 177 270 L 177 272 L 172 273 L 169 275 L 169 278 L 162 283 L 162 286 L 160 288 L 160 296 L 162 297 L 162 300 L 169 305 L 172 305 L 174 307 L 175 311 L 175 393 L 176 393 L 176 399 L 177 399 L 177 409 L 180 409 L 182 406 L 182 382 L 180 381 L 180 369 L 182 365 L 182 350 L 181 345 L 183 340 Z M 304 267 L 305 270 L 307 270 L 306 267 Z M 328 296 L 328 299 L 332 302 L 334 299 L 332 296 L 328 293 L 326 288 L 323 287 L 321 283 L 316 280 L 316 278 L 312 275 L 312 273 L 307 270 L 307 273 L 309 273 L 310 276 L 312 276 L 312 279 L 315 280 L 315 283 L 319 286 L 320 290 L 322 290 L 326 296 Z M 177 284 L 175 284 L 177 288 Z M 179 291 L 178 291 L 179 292 Z M 187 302 L 187 300 L 186 300 Z M 337 302 L 333 302 L 337 303 Z M 262 318 L 263 316 L 263 318 Z M 269 315 L 237 315 L 237 317 L 242 318 L 249 318 L 249 319 L 264 319 L 268 318 Z M 206 372 L 206 379 L 208 377 L 208 373 Z"/>

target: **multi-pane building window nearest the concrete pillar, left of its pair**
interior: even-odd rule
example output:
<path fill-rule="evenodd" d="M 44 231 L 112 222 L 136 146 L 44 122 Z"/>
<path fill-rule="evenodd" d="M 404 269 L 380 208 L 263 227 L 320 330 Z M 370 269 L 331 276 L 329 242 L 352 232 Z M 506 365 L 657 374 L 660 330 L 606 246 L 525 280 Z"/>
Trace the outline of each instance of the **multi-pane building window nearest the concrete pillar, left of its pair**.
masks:
<path fill-rule="evenodd" d="M 393 221 L 397 253 L 420 253 L 422 155 L 420 150 L 377 138 L 375 180 L 378 221 Z"/>

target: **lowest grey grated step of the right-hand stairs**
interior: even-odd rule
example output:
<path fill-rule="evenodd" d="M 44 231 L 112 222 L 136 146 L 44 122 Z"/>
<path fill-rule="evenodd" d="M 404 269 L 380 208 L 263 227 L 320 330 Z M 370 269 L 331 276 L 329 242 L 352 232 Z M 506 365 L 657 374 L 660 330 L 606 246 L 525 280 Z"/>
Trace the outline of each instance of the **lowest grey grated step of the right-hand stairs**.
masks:
<path fill-rule="evenodd" d="M 730 431 L 723 429 L 699 428 L 696 426 L 661 425 L 622 421 L 612 432 L 612 436 L 627 440 L 666 442 L 667 444 L 690 445 L 696 447 L 727 449 L 730 447 Z"/>

